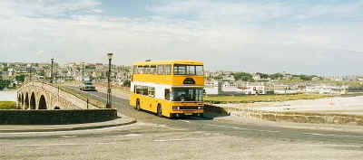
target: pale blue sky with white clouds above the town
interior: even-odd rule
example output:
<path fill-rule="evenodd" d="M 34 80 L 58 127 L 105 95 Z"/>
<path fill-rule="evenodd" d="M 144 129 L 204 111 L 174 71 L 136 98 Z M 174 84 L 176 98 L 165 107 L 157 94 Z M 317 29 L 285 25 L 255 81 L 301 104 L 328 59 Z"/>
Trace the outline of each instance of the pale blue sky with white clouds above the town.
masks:
<path fill-rule="evenodd" d="M 0 61 L 362 74 L 363 0 L 1 0 Z"/>

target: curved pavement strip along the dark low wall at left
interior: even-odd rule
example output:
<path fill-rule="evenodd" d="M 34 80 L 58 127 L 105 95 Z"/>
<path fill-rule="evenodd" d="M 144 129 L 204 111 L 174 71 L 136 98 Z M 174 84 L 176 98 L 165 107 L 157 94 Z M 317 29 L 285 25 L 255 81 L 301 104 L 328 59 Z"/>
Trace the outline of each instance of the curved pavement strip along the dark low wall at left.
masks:
<path fill-rule="evenodd" d="M 17 132 L 54 132 L 54 131 L 71 131 L 71 130 L 85 130 L 96 129 L 103 127 L 119 127 L 136 123 L 135 118 L 126 116 L 119 116 L 119 118 L 98 122 L 98 123 L 84 123 L 72 125 L 0 125 L 0 133 L 17 133 Z"/>

